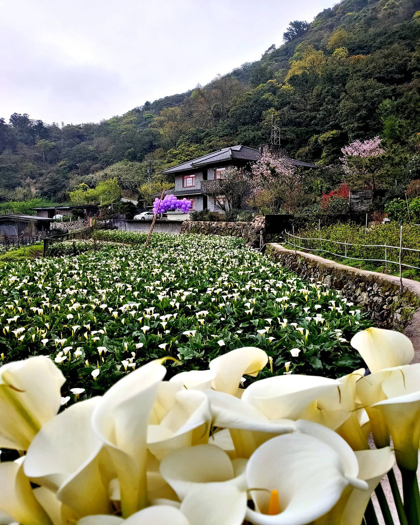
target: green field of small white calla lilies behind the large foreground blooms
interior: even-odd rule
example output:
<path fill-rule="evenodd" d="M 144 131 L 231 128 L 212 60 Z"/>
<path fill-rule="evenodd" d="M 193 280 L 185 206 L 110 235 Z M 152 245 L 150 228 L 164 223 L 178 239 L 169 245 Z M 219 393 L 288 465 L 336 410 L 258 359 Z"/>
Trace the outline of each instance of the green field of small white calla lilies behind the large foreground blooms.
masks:
<path fill-rule="evenodd" d="M 335 290 L 301 281 L 243 240 L 154 234 L 144 250 L 138 234 L 112 235 L 135 246 L 0 268 L 1 360 L 50 355 L 67 378 L 65 402 L 80 395 L 71 389 L 106 391 L 168 355 L 177 360 L 172 374 L 207 369 L 241 346 L 267 352 L 266 377 L 336 377 L 361 364 L 349 341 L 370 321 Z"/>

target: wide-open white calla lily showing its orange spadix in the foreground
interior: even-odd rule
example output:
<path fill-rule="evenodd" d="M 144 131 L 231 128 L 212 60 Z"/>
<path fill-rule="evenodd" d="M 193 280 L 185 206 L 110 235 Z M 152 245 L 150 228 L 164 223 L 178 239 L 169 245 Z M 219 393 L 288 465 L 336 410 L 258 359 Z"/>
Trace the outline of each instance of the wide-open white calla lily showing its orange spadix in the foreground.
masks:
<path fill-rule="evenodd" d="M 350 483 L 360 485 L 354 453 L 346 454 L 353 461 L 347 458 L 343 464 L 337 448 L 311 435 L 270 439 L 248 460 L 248 486 L 265 490 L 251 491 L 255 510 L 248 508 L 246 519 L 256 525 L 306 525 L 320 518 Z M 272 496 L 278 497 L 277 505 Z"/>

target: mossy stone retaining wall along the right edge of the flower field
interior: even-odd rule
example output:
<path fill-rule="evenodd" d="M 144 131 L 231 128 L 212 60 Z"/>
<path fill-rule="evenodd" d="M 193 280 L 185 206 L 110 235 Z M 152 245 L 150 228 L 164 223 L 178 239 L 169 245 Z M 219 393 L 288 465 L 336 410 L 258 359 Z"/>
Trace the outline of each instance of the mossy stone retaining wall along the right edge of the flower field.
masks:
<path fill-rule="evenodd" d="M 369 312 L 379 327 L 402 330 L 420 308 L 420 282 L 403 279 L 401 291 L 400 279 L 391 275 L 352 268 L 302 251 L 295 255 L 293 250 L 275 243 L 268 244 L 265 253 L 299 277 L 321 281 L 328 288 L 339 291 Z M 420 321 L 419 312 L 415 319 L 416 323 Z"/>

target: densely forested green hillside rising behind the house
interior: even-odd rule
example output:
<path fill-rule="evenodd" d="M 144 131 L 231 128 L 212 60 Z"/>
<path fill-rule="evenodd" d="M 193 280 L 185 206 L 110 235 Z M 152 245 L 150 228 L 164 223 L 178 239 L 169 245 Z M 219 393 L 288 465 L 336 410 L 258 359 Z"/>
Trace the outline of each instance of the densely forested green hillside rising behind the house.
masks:
<path fill-rule="evenodd" d="M 64 202 L 81 182 L 114 176 L 135 194 L 144 161 L 158 174 L 226 145 L 257 146 L 272 116 L 288 154 L 322 166 L 346 144 L 380 135 L 397 177 L 420 143 L 420 0 L 343 0 L 312 23 L 292 23 L 259 61 L 100 123 L 3 116 L 0 198 Z"/>

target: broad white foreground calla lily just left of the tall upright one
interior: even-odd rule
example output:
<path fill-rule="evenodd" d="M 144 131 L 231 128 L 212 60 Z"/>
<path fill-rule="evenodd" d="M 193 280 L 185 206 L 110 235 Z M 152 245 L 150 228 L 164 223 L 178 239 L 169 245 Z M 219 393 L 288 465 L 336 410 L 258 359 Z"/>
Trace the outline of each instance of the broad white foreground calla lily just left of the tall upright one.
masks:
<path fill-rule="evenodd" d="M 110 480 L 101 468 L 102 442 L 90 425 L 99 403 L 99 397 L 92 397 L 51 419 L 35 436 L 25 458 L 25 475 L 55 492 L 76 518 L 111 510 Z"/>

